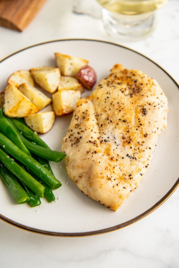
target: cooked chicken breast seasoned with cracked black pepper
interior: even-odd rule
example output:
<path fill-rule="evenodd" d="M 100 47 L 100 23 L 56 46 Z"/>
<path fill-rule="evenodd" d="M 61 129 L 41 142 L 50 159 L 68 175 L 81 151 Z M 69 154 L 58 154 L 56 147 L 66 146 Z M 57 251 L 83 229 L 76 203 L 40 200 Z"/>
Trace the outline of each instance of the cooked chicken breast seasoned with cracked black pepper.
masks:
<path fill-rule="evenodd" d="M 76 104 L 62 141 L 70 178 L 86 195 L 116 211 L 147 171 L 167 111 L 156 80 L 114 65 L 92 94 Z"/>

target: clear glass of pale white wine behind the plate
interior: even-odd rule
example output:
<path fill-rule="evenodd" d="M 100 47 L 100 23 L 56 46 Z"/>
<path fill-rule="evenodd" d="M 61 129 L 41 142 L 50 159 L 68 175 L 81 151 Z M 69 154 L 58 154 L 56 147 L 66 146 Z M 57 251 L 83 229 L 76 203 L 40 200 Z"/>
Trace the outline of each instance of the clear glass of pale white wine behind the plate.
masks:
<path fill-rule="evenodd" d="M 103 7 L 107 33 L 122 38 L 140 38 L 155 26 L 155 11 L 168 0 L 97 0 Z"/>

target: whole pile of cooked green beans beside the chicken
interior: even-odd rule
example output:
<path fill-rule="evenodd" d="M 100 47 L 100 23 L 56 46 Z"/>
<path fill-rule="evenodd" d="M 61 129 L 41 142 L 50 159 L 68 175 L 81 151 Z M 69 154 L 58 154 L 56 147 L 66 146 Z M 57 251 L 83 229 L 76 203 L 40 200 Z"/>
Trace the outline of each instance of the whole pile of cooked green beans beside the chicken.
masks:
<path fill-rule="evenodd" d="M 60 162 L 65 154 L 53 151 L 22 120 L 5 116 L 0 109 L 0 175 L 18 204 L 32 207 L 55 197 L 61 186 L 49 161 Z"/>

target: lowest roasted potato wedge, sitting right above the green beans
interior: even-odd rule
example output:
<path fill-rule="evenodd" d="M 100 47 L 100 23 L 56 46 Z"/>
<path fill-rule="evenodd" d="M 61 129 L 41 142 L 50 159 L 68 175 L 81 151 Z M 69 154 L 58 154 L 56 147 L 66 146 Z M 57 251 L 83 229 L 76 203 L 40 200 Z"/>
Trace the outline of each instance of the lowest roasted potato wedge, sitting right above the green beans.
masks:
<path fill-rule="evenodd" d="M 31 114 L 24 117 L 24 121 L 33 131 L 44 134 L 52 128 L 55 122 L 55 113 L 48 111 Z"/>

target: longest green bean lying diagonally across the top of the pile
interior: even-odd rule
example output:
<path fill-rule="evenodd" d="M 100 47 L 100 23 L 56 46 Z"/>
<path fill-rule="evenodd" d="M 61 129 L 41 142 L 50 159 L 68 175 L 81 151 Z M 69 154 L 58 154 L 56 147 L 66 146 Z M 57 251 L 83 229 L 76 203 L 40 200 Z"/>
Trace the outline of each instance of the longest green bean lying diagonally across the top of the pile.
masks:
<path fill-rule="evenodd" d="M 57 180 L 57 178 L 55 178 L 45 167 L 43 167 L 38 161 L 36 161 L 30 155 L 26 155 L 2 133 L 0 133 L 0 146 L 2 148 L 5 148 L 5 150 L 15 159 L 17 159 L 25 166 L 30 168 L 51 189 L 57 189 L 61 186 L 61 182 Z"/>

